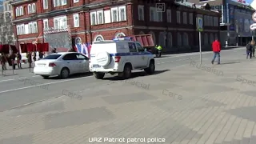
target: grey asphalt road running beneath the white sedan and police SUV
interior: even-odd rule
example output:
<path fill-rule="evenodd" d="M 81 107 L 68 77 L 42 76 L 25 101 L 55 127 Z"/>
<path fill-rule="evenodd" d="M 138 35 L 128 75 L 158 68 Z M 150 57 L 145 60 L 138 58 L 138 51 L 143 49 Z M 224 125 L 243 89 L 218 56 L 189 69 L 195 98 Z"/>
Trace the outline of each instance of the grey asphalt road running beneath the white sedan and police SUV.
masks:
<path fill-rule="evenodd" d="M 203 52 L 202 61 L 210 63 L 212 52 Z M 244 48 L 234 50 L 222 50 L 222 63 L 245 61 Z M 156 74 L 166 70 L 172 70 L 179 66 L 188 66 L 191 61 L 198 62 L 198 53 L 170 54 L 163 58 L 156 58 Z M 35 76 L 29 69 L 7 70 L 5 76 L 0 75 L 0 111 L 6 111 L 31 103 L 42 102 L 50 98 L 57 98 L 63 94 L 76 94 L 82 90 L 95 89 L 97 86 L 117 83 L 117 78 L 106 75 L 104 80 L 96 80 L 91 74 L 74 75 L 71 78 L 62 80 L 58 78 L 42 79 Z M 136 71 L 134 79 L 138 76 L 145 76 L 144 72 Z M 63 91 L 64 90 L 64 91 Z"/>

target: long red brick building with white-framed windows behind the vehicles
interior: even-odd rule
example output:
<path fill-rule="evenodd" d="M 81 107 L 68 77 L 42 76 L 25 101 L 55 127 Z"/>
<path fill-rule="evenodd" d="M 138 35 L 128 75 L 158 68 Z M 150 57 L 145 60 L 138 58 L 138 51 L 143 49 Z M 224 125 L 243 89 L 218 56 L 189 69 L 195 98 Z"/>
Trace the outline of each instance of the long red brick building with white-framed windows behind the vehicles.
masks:
<path fill-rule="evenodd" d="M 191 49 L 198 46 L 197 17 L 205 19 L 202 46 L 219 38 L 220 14 L 208 5 L 185 6 L 174 0 L 16 0 L 12 6 L 18 44 L 44 42 L 44 29 L 69 27 L 73 44 L 76 39 L 93 42 L 152 34 L 166 51 Z"/>

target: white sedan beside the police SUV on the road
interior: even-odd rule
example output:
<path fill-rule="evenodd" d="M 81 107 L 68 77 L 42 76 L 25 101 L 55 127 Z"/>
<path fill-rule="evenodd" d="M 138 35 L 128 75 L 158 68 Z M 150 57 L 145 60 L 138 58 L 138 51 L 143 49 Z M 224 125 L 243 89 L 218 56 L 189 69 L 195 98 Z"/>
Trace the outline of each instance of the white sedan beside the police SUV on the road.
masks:
<path fill-rule="evenodd" d="M 70 74 L 89 72 L 89 58 L 76 52 L 50 54 L 34 62 L 34 65 L 34 74 L 41 75 L 42 78 L 55 75 L 68 78 Z"/>

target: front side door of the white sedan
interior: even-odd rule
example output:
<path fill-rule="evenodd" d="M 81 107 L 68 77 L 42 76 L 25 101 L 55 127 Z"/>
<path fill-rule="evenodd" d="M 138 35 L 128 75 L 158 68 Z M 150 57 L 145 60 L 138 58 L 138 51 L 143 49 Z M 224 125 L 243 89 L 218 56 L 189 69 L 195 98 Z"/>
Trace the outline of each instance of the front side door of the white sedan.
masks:
<path fill-rule="evenodd" d="M 76 54 L 78 58 L 78 73 L 89 72 L 89 58 L 83 54 Z"/>

